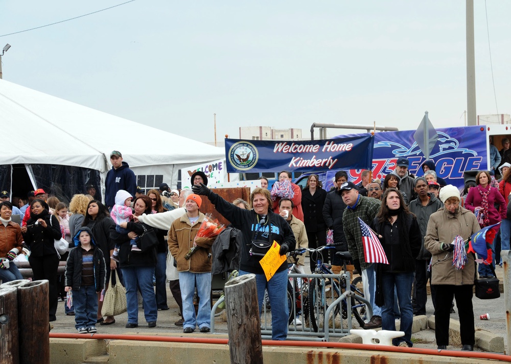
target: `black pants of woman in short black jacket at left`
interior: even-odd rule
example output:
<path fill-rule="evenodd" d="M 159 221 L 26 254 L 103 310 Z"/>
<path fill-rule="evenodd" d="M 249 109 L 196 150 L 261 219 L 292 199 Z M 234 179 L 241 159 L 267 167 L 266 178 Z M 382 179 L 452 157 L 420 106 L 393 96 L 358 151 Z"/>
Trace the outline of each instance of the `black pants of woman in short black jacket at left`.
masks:
<path fill-rule="evenodd" d="M 59 269 L 59 257 L 57 254 L 43 256 L 29 256 L 30 267 L 34 273 L 34 280 L 48 279 L 50 299 L 50 321 L 55 321 L 57 313 L 57 272 Z"/>

